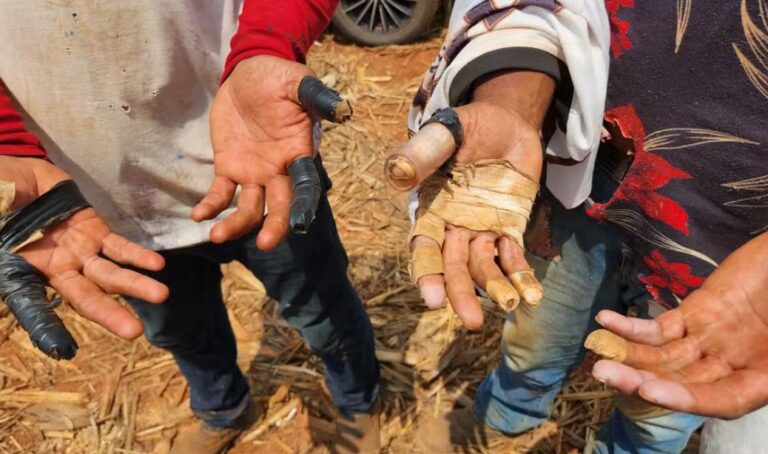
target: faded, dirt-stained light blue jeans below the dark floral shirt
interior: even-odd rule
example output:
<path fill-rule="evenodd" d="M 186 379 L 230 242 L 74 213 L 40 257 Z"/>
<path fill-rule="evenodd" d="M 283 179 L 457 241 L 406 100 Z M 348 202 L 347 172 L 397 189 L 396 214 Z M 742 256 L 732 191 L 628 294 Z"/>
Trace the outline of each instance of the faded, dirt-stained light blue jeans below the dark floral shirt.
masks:
<path fill-rule="evenodd" d="M 610 182 L 596 178 L 609 190 Z M 598 188 L 600 189 L 600 188 Z M 637 281 L 622 232 L 549 197 L 552 243 L 560 261 L 527 257 L 544 286 L 537 308 L 521 304 L 504 325 L 502 360 L 477 391 L 475 413 L 490 427 L 519 434 L 549 418 L 551 404 L 584 358 L 584 340 L 597 328 L 600 309 L 638 306 L 650 299 Z M 644 417 L 617 410 L 598 436 L 600 453 L 675 453 L 703 423 L 698 416 L 667 413 Z"/>

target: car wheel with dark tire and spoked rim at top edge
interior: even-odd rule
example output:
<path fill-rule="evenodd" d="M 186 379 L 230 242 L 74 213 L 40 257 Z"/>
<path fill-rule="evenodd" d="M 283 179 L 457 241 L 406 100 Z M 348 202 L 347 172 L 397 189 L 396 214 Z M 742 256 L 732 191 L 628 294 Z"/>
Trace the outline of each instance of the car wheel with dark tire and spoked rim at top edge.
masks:
<path fill-rule="evenodd" d="M 414 5 L 409 8 L 408 3 Z M 430 30 L 440 4 L 441 0 L 341 0 L 333 15 L 333 28 L 342 38 L 363 46 L 405 44 Z M 379 14 L 371 15 L 376 6 Z M 399 23 L 395 24 L 393 16 Z"/>

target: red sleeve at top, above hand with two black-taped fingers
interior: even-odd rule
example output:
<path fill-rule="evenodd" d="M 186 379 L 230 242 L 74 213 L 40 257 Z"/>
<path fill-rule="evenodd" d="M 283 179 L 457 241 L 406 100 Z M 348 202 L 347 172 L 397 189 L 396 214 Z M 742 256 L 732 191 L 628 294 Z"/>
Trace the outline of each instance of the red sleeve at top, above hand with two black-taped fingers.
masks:
<path fill-rule="evenodd" d="M 338 0 L 245 0 L 221 80 L 241 60 L 254 55 L 303 63 L 337 4 Z"/>

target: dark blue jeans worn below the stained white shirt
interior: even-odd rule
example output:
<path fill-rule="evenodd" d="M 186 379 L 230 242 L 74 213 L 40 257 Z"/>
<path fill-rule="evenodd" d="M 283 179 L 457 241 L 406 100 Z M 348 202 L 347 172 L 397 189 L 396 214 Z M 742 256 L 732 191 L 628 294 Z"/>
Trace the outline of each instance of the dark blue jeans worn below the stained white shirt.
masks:
<path fill-rule="evenodd" d="M 323 360 L 339 410 L 368 412 L 379 393 L 373 329 L 347 276 L 348 259 L 328 200 L 322 198 L 306 235 L 289 235 L 273 251 L 256 247 L 257 233 L 162 252 L 165 269 L 148 274 L 168 285 L 169 299 L 159 305 L 130 300 L 147 339 L 173 354 L 189 382 L 194 413 L 212 427 L 232 425 L 248 403 L 248 384 L 235 361 L 219 266 L 238 260 Z"/>

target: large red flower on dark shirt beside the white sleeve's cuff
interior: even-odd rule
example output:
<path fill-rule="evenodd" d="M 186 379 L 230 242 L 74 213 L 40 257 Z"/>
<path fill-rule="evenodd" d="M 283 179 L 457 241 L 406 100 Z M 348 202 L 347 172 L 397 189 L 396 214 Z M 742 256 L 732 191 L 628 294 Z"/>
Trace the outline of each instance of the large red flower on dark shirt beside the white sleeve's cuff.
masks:
<path fill-rule="evenodd" d="M 632 104 L 609 110 L 605 114 L 605 120 L 617 125 L 624 137 L 632 140 L 635 159 L 611 200 L 595 204 L 588 210 L 589 215 L 604 219 L 603 210 L 624 200 L 635 203 L 648 217 L 688 235 L 688 213 L 679 203 L 656 190 L 666 186 L 671 180 L 693 177 L 661 156 L 645 151 L 645 127 Z"/>

